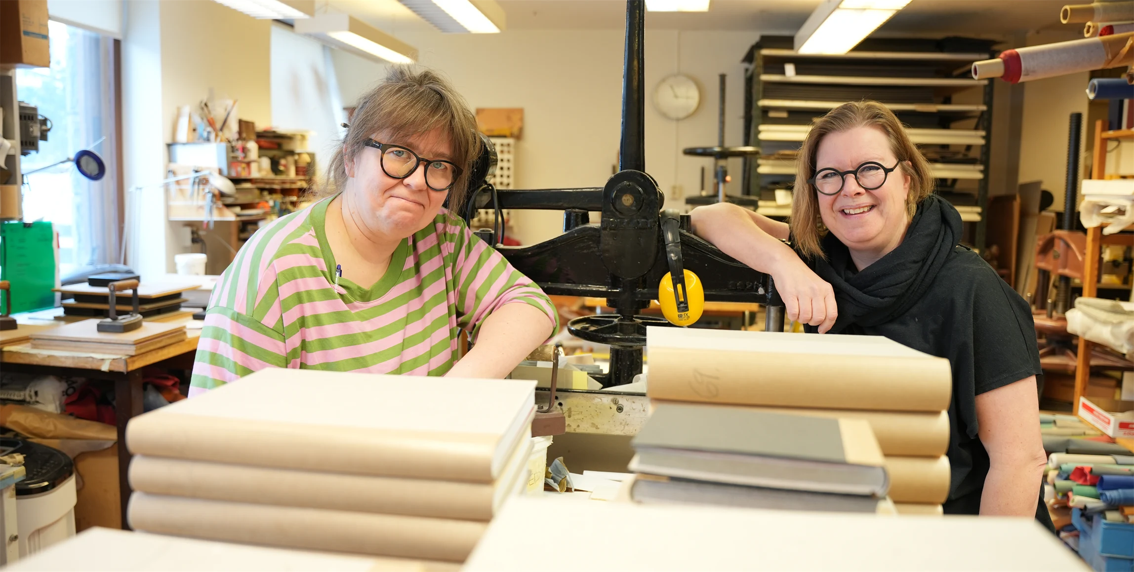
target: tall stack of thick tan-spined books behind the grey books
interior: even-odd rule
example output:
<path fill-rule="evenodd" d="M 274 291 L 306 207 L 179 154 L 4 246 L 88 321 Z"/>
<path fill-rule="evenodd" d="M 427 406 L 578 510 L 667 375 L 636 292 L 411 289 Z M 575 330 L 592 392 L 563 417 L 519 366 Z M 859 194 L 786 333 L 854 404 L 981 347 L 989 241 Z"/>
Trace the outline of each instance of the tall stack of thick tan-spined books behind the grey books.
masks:
<path fill-rule="evenodd" d="M 949 493 L 949 361 L 881 336 L 651 327 L 648 395 L 870 424 L 898 513 Z"/>

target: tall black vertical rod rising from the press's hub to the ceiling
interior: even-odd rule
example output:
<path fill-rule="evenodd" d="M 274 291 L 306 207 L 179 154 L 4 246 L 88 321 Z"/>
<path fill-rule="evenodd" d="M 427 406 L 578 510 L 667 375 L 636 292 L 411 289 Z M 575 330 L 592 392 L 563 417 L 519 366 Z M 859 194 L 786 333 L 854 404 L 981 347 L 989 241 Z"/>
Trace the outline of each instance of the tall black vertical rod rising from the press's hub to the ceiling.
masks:
<path fill-rule="evenodd" d="M 623 72 L 623 138 L 618 169 L 645 172 L 644 0 L 626 1 L 626 61 Z"/>

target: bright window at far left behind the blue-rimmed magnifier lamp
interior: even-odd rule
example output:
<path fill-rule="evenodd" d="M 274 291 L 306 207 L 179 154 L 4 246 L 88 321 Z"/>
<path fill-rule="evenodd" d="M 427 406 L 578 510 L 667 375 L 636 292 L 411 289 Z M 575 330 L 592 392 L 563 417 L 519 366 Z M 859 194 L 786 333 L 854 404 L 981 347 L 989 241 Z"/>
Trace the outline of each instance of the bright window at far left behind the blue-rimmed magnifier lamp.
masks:
<path fill-rule="evenodd" d="M 119 191 L 116 130 L 115 41 L 82 28 L 49 23 L 51 67 L 16 71 L 20 101 L 51 120 L 39 153 L 25 155 L 24 172 L 90 148 L 107 165 L 99 181 L 65 163 L 25 178 L 24 220 L 50 221 L 59 236 L 59 272 L 118 262 Z"/>

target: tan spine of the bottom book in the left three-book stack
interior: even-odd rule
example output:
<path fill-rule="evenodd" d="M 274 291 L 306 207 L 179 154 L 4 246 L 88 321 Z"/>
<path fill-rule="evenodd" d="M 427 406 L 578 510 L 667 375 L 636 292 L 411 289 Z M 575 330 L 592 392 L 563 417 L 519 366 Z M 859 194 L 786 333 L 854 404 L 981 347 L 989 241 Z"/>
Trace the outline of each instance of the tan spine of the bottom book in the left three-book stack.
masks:
<path fill-rule="evenodd" d="M 302 494 L 302 492 L 297 492 Z M 464 562 L 488 524 L 464 520 L 130 495 L 130 528 L 206 540 Z"/>

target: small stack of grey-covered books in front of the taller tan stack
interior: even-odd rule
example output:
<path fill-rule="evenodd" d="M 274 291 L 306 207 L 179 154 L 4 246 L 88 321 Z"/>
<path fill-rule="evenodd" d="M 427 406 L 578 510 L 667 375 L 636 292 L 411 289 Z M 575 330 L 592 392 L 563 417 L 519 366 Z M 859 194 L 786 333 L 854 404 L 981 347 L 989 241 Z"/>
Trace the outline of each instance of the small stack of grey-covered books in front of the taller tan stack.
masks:
<path fill-rule="evenodd" d="M 662 403 L 633 445 L 643 503 L 878 512 L 888 486 L 861 419 Z"/>

